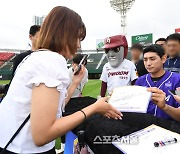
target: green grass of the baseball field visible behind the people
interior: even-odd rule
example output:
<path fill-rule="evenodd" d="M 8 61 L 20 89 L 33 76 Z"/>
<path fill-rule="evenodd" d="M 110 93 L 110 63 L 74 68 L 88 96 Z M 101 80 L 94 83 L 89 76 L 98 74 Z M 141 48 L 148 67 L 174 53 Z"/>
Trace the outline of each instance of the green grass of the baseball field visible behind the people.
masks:
<path fill-rule="evenodd" d="M 0 81 L 0 84 L 7 84 L 7 83 L 9 83 L 8 80 Z M 83 96 L 90 96 L 97 98 L 97 96 L 100 95 L 100 86 L 101 86 L 100 80 L 89 80 L 83 89 Z M 60 148 L 61 148 L 61 139 L 58 138 L 56 140 L 56 149 L 60 149 Z"/>

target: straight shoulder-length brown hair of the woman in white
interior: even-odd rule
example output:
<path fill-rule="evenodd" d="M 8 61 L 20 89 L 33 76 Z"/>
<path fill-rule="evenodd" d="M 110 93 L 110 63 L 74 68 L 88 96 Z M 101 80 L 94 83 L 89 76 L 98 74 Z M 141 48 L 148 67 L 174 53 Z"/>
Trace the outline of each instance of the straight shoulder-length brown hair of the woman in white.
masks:
<path fill-rule="evenodd" d="M 56 6 L 46 16 L 39 33 L 37 49 L 49 49 L 57 53 L 77 52 L 78 42 L 86 36 L 81 17 L 73 10 Z"/>

